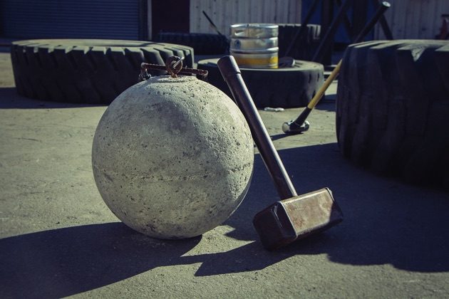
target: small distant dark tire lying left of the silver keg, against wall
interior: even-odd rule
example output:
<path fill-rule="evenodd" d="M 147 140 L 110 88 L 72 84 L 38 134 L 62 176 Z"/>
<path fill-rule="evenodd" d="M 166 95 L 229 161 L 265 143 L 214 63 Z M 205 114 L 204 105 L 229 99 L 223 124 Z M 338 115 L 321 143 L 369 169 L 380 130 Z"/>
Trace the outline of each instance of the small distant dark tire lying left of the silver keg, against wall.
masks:
<path fill-rule="evenodd" d="M 197 55 L 224 55 L 229 53 L 227 38 L 212 33 L 160 32 L 155 41 L 190 46 Z"/>

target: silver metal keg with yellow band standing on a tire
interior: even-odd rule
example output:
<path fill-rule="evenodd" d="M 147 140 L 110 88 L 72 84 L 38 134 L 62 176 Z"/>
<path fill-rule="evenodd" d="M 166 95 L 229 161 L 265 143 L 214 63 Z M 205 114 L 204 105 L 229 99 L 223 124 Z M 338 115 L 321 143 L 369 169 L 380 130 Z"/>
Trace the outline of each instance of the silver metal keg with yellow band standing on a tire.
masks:
<path fill-rule="evenodd" d="M 231 25 L 229 52 L 244 68 L 277 68 L 279 26 L 268 23 Z"/>

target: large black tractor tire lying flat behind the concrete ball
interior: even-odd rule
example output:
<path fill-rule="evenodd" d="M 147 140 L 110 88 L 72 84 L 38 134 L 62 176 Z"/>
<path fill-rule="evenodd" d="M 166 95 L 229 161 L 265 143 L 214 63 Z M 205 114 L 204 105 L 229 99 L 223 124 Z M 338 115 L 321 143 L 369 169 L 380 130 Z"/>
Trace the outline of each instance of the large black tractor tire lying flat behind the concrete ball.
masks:
<path fill-rule="evenodd" d="M 193 49 L 168 43 L 47 39 L 15 41 L 11 47 L 17 92 L 66 103 L 110 104 L 138 83 L 140 63 L 163 65 L 174 55 L 192 67 Z"/>

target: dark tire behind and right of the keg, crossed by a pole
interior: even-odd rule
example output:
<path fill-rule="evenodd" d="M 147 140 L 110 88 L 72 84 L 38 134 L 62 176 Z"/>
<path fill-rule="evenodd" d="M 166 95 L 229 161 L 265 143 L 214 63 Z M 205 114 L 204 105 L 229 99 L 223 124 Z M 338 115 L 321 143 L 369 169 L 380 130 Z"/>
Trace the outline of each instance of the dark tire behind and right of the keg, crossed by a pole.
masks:
<path fill-rule="evenodd" d="M 300 23 L 279 24 L 279 57 L 285 56 L 285 52 L 289 48 L 291 41 L 293 41 L 294 36 L 300 29 Z M 291 47 L 289 56 L 299 60 L 310 61 L 319 45 L 320 32 L 320 25 L 307 24 L 306 33 L 302 38 L 296 39 L 294 45 Z"/>

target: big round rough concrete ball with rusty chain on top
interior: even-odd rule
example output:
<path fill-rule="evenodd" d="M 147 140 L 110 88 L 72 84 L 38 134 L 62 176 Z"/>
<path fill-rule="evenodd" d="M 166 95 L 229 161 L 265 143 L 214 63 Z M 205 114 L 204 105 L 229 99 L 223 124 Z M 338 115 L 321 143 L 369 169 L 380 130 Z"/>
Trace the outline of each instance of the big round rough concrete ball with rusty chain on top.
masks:
<path fill-rule="evenodd" d="M 192 76 L 161 76 L 128 88 L 105 110 L 92 164 L 100 195 L 123 223 L 155 238 L 190 238 L 241 204 L 254 147 L 222 91 Z"/>

